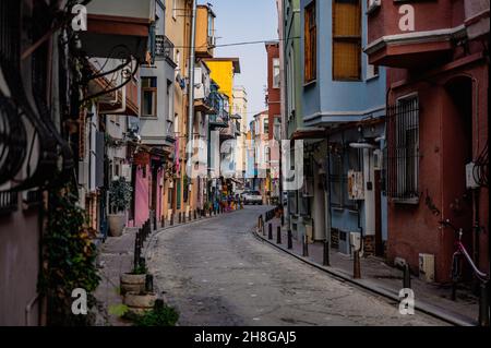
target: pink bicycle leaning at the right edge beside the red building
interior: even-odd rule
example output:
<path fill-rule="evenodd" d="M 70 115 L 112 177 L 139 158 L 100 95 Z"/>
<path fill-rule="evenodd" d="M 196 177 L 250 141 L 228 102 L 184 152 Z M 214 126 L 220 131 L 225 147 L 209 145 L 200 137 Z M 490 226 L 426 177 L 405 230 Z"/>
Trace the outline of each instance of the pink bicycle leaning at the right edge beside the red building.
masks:
<path fill-rule="evenodd" d="M 455 245 L 457 247 L 457 250 L 452 255 L 452 273 L 451 273 L 451 277 L 452 277 L 452 300 L 455 301 L 456 290 L 457 290 L 457 283 L 462 278 L 462 256 L 464 256 L 467 260 L 467 262 L 469 263 L 470 267 L 474 271 L 474 274 L 476 275 L 476 277 L 482 284 L 486 284 L 486 285 L 488 284 L 489 276 L 478 268 L 478 266 L 474 263 L 472 257 L 470 257 L 469 252 L 467 251 L 467 249 L 465 248 L 464 243 L 462 242 L 462 236 L 464 235 L 464 229 L 463 228 L 456 228 L 451 223 L 450 219 L 441 220 L 440 225 L 442 225 L 444 227 L 450 227 L 456 233 L 458 233 L 458 239 L 455 242 Z"/>

